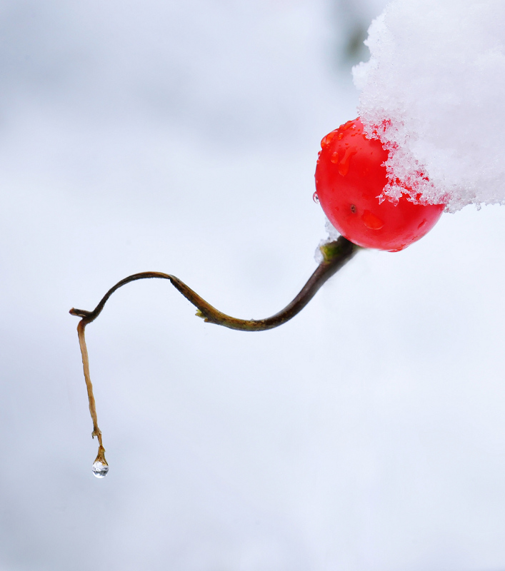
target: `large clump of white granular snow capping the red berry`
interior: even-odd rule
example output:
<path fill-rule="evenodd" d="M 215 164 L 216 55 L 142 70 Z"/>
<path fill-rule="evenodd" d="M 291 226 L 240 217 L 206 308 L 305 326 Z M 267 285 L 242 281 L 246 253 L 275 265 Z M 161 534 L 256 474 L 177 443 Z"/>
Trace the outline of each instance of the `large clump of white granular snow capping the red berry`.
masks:
<path fill-rule="evenodd" d="M 505 2 L 394 0 L 353 69 L 359 116 L 390 151 L 385 194 L 505 203 Z"/>

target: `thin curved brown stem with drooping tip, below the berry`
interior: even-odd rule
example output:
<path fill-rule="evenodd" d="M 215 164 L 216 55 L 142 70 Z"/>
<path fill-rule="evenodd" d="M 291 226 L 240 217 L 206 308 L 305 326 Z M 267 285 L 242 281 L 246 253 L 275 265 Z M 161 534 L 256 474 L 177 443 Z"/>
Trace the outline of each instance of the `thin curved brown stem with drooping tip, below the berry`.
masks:
<path fill-rule="evenodd" d="M 84 379 L 86 380 L 86 388 L 88 390 L 89 399 L 89 412 L 91 413 L 91 419 L 93 420 L 93 436 L 97 436 L 99 440 L 99 455 L 103 458 L 104 447 L 101 441 L 101 430 L 98 426 L 98 420 L 96 417 L 96 406 L 95 399 L 93 395 L 93 385 L 91 384 L 91 378 L 89 375 L 89 359 L 88 351 L 86 349 L 86 340 L 84 338 L 84 329 L 88 323 L 94 321 L 104 309 L 107 300 L 111 295 L 121 288 L 123 285 L 136 280 L 144 280 L 149 278 L 159 278 L 164 280 L 169 280 L 176 290 L 184 295 L 184 297 L 189 300 L 196 308 L 196 315 L 203 318 L 206 323 L 214 323 L 215 325 L 222 325 L 230 329 L 236 329 L 239 331 L 264 331 L 267 329 L 273 329 L 279 327 L 286 321 L 299 313 L 309 301 L 316 295 L 321 285 L 323 285 L 331 276 L 334 275 L 339 269 L 348 262 L 354 254 L 359 250 L 359 246 L 356 246 L 349 240 L 346 240 L 344 236 L 340 236 L 336 241 L 329 242 L 321 246 L 321 254 L 323 259 L 316 271 L 312 274 L 309 280 L 306 282 L 303 288 L 291 303 L 288 303 L 284 309 L 281 309 L 275 315 L 266 319 L 239 319 L 231 317 L 231 315 L 226 315 L 226 313 L 221 313 L 221 311 L 214 308 L 210 303 L 208 303 L 204 298 L 201 298 L 194 290 L 189 288 L 183 281 L 179 280 L 175 276 L 171 276 L 169 273 L 161 272 L 142 272 L 134 273 L 132 276 L 128 276 L 123 280 L 119 281 L 114 285 L 109 291 L 101 298 L 100 303 L 96 305 L 96 308 L 92 311 L 84 309 L 71 308 L 71 315 L 76 315 L 81 318 L 79 325 L 77 326 L 77 333 L 79 335 L 79 345 L 81 348 L 82 364 L 84 368 Z"/>

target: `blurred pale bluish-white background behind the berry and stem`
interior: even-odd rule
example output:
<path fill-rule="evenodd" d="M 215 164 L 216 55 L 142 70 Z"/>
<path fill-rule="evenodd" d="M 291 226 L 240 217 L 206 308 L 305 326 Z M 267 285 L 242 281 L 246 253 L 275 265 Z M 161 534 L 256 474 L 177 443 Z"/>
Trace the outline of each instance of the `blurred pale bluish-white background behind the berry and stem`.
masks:
<path fill-rule="evenodd" d="M 505 209 L 314 270 L 384 1 L 0 2 L 0 570 L 505 568 Z"/>

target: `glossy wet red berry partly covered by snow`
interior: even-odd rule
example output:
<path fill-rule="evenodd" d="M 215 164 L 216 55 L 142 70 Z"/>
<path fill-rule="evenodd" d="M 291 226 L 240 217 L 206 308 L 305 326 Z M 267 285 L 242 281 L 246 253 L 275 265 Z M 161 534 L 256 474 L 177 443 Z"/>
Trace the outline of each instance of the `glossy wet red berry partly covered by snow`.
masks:
<path fill-rule="evenodd" d="M 414 203 L 408 193 L 396 203 L 379 203 L 388 183 L 388 155 L 378 139 L 366 138 L 359 118 L 348 121 L 321 141 L 316 193 L 342 236 L 364 248 L 396 252 L 429 232 L 445 205 Z"/>

